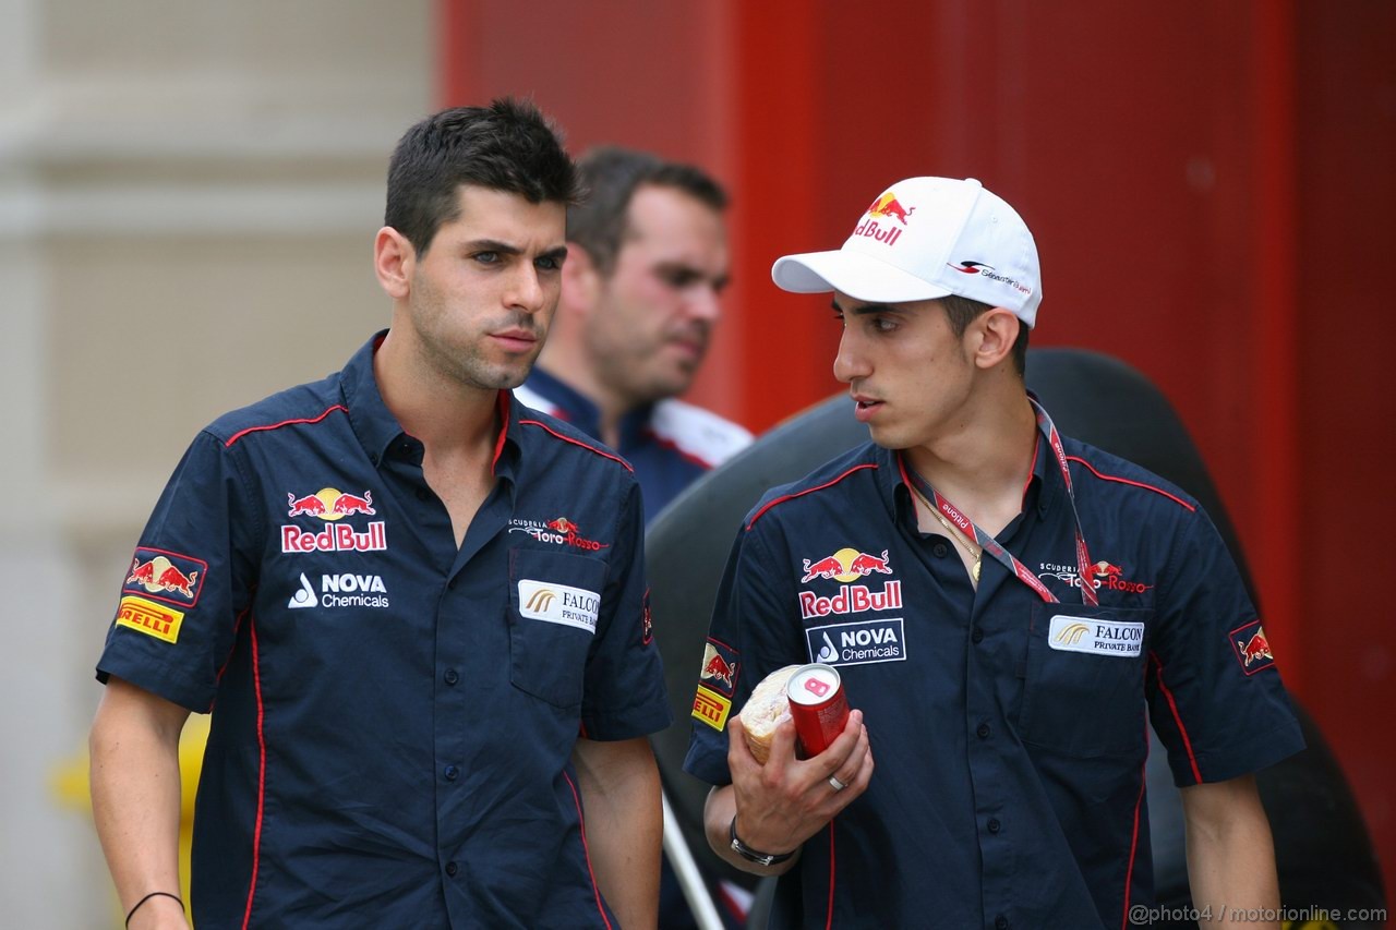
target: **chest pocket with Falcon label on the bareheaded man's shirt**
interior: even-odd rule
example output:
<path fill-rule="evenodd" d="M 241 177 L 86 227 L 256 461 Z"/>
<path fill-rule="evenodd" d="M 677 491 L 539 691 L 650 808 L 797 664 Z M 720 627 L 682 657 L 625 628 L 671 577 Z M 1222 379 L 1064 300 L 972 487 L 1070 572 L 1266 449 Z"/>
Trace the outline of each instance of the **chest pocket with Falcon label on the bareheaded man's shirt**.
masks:
<path fill-rule="evenodd" d="M 510 681 L 560 708 L 582 702 L 606 563 L 535 549 L 510 552 Z"/>

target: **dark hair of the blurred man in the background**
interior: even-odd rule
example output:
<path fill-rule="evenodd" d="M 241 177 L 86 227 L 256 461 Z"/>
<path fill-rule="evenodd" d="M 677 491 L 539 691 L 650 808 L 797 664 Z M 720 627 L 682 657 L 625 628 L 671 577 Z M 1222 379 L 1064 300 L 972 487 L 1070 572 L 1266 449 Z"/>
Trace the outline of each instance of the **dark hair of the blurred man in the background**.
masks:
<path fill-rule="evenodd" d="M 579 207 L 567 211 L 567 240 L 585 249 L 603 275 L 616 267 L 630 201 L 641 187 L 673 187 L 716 211 L 727 207 L 726 191 L 701 169 L 666 162 L 649 152 L 603 145 L 582 155 L 577 168 L 588 195 Z"/>

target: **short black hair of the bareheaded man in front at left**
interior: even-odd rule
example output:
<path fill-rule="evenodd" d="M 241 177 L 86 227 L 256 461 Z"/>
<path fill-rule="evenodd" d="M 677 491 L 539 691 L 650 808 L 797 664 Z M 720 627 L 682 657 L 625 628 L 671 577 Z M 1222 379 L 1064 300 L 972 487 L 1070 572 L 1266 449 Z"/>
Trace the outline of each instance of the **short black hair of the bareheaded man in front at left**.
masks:
<path fill-rule="evenodd" d="M 575 204 L 577 165 L 533 103 L 500 98 L 422 120 L 398 140 L 388 165 L 384 223 L 426 254 L 443 223 L 461 215 L 459 189 L 476 184 L 532 204 Z"/>

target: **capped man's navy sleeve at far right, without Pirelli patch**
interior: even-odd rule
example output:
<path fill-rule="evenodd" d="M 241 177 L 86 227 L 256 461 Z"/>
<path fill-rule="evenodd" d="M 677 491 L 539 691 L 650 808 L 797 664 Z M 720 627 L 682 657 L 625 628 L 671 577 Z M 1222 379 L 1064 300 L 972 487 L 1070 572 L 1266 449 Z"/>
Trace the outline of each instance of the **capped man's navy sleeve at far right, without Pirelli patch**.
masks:
<path fill-rule="evenodd" d="M 1178 531 L 1157 610 L 1150 718 L 1180 786 L 1247 775 L 1304 748 L 1263 620 L 1201 510 Z"/>

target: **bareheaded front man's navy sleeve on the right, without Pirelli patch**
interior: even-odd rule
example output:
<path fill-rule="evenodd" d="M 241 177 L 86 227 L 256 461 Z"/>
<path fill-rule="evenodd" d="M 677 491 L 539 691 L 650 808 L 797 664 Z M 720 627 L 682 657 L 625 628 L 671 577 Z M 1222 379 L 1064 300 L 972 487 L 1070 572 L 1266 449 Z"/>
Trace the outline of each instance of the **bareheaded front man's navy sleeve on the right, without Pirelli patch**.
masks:
<path fill-rule="evenodd" d="M 586 658 L 582 732 L 588 739 L 646 736 L 664 729 L 671 719 L 664 667 L 649 617 L 644 529 L 639 486 L 631 482 L 602 593 L 596 641 Z"/>

